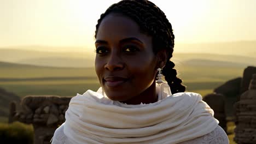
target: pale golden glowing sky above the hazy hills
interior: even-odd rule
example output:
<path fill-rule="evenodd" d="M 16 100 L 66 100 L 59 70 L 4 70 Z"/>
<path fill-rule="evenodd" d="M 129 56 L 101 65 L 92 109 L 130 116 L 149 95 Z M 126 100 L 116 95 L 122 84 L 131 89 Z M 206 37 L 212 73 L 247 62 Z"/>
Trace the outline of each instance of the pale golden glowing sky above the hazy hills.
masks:
<path fill-rule="evenodd" d="M 0 47 L 94 47 L 95 25 L 117 0 L 0 0 Z M 254 0 L 152 0 L 176 43 L 256 40 Z"/>

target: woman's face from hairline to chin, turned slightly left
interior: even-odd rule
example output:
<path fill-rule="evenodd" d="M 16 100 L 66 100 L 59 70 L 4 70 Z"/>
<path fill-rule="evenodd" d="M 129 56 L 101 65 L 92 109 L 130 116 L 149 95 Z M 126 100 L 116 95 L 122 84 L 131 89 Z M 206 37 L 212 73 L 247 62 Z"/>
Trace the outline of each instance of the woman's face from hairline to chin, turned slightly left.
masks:
<path fill-rule="evenodd" d="M 157 62 L 152 37 L 141 33 L 135 21 L 107 15 L 98 27 L 95 47 L 96 74 L 109 99 L 132 103 L 154 95 Z"/>

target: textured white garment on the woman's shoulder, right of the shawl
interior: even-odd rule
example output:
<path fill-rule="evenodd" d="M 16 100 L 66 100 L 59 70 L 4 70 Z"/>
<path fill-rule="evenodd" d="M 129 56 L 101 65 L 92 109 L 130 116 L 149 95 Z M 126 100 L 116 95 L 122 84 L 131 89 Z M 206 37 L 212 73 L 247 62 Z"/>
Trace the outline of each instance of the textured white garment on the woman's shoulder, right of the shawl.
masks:
<path fill-rule="evenodd" d="M 210 143 L 210 144 L 228 144 L 229 139 L 225 131 L 218 125 L 211 133 L 197 137 L 196 139 L 182 142 L 180 144 L 200 144 L 200 143 Z"/>

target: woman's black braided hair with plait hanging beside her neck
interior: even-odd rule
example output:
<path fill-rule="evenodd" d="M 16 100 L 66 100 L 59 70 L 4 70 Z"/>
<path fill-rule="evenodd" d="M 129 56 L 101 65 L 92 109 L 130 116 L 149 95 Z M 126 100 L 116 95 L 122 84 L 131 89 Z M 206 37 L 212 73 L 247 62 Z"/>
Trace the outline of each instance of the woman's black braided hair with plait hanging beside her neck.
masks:
<path fill-rule="evenodd" d="M 171 88 L 172 94 L 184 92 L 185 86 L 182 80 L 177 77 L 175 64 L 170 61 L 174 47 L 174 34 L 172 25 L 166 18 L 166 15 L 154 3 L 147 0 L 123 0 L 111 5 L 105 13 L 101 14 L 96 25 L 95 38 L 101 21 L 110 13 L 123 14 L 137 22 L 140 31 L 152 36 L 153 52 L 156 54 L 165 49 L 167 52 L 167 61 L 162 69 L 162 74 Z"/>

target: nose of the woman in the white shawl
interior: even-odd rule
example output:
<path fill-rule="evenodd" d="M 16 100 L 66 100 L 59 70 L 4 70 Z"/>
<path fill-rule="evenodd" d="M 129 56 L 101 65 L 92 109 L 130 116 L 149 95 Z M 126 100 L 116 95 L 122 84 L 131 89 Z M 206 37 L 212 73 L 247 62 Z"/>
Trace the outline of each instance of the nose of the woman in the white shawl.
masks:
<path fill-rule="evenodd" d="M 124 62 L 118 53 L 112 52 L 109 57 L 107 63 L 104 65 L 104 68 L 109 71 L 121 70 L 124 68 Z"/>

